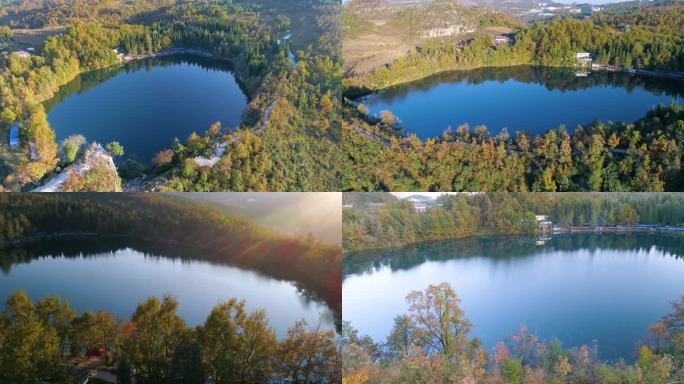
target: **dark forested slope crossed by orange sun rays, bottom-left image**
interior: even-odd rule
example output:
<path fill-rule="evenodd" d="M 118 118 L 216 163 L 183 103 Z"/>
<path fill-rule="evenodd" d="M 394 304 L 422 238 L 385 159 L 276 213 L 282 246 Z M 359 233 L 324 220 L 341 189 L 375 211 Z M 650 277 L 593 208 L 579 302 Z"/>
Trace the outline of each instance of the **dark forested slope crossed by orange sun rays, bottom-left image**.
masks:
<path fill-rule="evenodd" d="M 341 251 L 288 237 L 180 197 L 159 194 L 0 194 L 0 243 L 83 232 L 172 242 L 204 260 L 293 281 L 341 311 Z"/>

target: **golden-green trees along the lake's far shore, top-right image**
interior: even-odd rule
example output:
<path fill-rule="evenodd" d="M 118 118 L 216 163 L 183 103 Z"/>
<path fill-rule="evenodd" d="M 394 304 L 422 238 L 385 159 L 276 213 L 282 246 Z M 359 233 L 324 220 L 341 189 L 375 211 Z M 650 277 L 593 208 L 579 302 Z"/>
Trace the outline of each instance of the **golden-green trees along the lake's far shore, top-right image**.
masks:
<path fill-rule="evenodd" d="M 684 69 L 684 6 L 679 2 L 641 6 L 628 14 L 599 12 L 586 20 L 556 18 L 511 34 L 511 44 L 494 45 L 477 34 L 461 44 L 431 44 L 392 64 L 346 80 L 353 89 L 382 89 L 447 70 L 521 64 L 577 66 L 577 52 L 594 62 L 624 68 Z"/>

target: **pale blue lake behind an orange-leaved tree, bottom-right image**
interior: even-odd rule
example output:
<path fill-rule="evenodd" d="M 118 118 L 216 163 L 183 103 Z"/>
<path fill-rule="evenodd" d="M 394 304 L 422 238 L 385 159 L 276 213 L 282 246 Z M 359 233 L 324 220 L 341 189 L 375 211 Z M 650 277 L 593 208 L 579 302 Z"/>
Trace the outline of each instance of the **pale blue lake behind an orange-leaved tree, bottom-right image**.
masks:
<path fill-rule="evenodd" d="M 677 235 L 471 238 L 349 255 L 342 317 L 376 342 L 407 312 L 405 296 L 449 282 L 491 351 L 521 325 L 565 348 L 598 345 L 604 360 L 634 358 L 648 327 L 684 295 Z"/>

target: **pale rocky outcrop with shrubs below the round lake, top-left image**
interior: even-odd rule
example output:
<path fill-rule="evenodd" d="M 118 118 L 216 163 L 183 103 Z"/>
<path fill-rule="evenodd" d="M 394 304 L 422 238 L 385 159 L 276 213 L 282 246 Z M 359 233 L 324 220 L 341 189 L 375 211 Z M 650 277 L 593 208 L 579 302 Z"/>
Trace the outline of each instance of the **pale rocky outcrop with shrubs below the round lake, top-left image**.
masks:
<path fill-rule="evenodd" d="M 121 178 L 112 156 L 100 144 L 93 143 L 83 156 L 32 192 L 65 191 L 121 192 Z"/>

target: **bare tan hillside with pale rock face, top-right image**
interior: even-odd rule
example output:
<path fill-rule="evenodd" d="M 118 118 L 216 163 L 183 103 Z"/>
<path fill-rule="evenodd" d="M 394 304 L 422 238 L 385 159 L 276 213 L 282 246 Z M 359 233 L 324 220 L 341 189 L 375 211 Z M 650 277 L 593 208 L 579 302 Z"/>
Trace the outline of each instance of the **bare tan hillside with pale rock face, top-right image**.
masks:
<path fill-rule="evenodd" d="M 373 71 L 432 45 L 464 44 L 476 35 L 510 33 L 519 22 L 495 10 L 455 0 L 388 3 L 351 0 L 342 15 L 347 75 Z"/>

